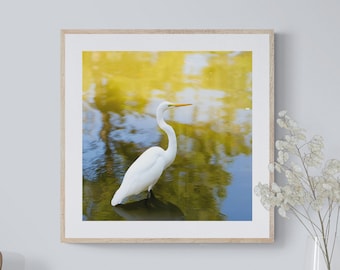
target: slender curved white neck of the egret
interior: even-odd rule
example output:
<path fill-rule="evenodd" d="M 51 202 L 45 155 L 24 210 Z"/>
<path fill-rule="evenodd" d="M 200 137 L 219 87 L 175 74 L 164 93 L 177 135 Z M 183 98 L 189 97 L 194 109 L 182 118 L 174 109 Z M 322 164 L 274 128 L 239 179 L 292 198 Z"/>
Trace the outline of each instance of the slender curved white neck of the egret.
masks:
<path fill-rule="evenodd" d="M 165 123 L 163 119 L 163 111 L 158 110 L 157 111 L 157 123 L 158 126 L 165 131 L 165 133 L 168 135 L 168 148 L 165 150 L 165 158 L 166 158 L 166 167 L 168 167 L 176 157 L 177 152 L 177 140 L 176 140 L 176 134 L 174 129 Z"/>

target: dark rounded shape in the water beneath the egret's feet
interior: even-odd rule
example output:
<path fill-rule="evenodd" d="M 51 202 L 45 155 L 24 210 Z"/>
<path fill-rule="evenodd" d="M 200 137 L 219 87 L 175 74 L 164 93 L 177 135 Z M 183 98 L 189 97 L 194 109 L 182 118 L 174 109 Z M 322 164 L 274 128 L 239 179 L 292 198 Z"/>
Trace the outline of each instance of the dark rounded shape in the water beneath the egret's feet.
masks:
<path fill-rule="evenodd" d="M 125 220 L 184 220 L 183 212 L 176 205 L 157 199 L 152 192 L 147 199 L 112 208 Z"/>

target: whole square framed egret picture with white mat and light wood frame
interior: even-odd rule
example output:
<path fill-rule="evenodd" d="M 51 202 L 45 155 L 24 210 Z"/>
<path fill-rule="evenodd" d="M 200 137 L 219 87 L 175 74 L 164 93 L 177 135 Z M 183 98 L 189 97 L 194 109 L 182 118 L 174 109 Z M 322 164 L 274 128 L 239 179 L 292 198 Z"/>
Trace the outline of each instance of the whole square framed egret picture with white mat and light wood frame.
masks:
<path fill-rule="evenodd" d="M 61 240 L 269 243 L 272 30 L 62 30 Z"/>

